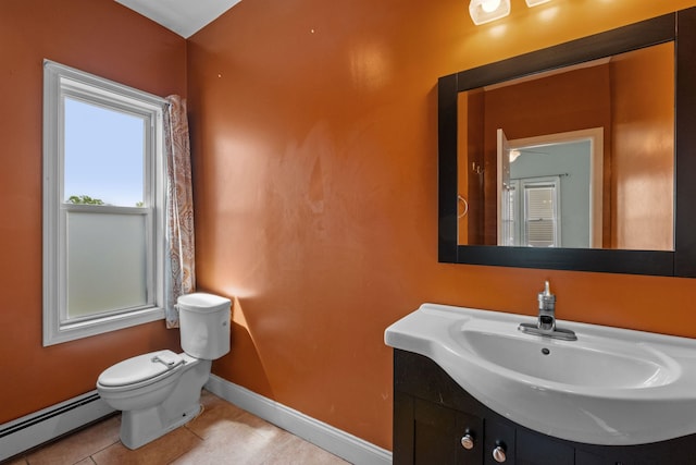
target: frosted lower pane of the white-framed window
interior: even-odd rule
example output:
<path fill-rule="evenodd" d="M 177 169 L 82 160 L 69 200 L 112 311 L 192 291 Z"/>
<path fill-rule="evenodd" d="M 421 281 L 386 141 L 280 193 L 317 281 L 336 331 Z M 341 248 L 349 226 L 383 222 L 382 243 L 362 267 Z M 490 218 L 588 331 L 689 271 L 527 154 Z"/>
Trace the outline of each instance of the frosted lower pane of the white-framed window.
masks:
<path fill-rule="evenodd" d="M 147 304 L 146 217 L 67 215 L 67 317 Z"/>

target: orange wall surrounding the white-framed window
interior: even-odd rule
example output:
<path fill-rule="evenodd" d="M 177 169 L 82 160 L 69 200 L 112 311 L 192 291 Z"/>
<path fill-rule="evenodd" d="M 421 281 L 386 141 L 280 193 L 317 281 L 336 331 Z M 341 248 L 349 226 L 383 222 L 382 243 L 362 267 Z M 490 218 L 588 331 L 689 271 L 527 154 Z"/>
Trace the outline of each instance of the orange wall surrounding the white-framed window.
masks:
<path fill-rule="evenodd" d="M 0 1 L 0 424 L 95 389 L 126 357 L 177 348 L 161 321 L 41 346 L 42 60 L 186 95 L 186 41 L 112 0 Z"/>

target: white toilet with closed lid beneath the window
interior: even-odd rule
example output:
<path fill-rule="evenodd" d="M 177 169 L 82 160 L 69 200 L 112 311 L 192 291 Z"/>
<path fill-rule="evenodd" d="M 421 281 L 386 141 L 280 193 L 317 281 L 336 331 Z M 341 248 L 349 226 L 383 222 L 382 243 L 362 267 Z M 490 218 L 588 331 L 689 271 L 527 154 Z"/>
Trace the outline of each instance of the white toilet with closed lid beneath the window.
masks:
<path fill-rule="evenodd" d="M 212 360 L 229 352 L 228 298 L 206 293 L 177 299 L 183 354 L 157 351 L 107 368 L 99 395 L 123 411 L 121 442 L 137 449 L 194 418 Z"/>

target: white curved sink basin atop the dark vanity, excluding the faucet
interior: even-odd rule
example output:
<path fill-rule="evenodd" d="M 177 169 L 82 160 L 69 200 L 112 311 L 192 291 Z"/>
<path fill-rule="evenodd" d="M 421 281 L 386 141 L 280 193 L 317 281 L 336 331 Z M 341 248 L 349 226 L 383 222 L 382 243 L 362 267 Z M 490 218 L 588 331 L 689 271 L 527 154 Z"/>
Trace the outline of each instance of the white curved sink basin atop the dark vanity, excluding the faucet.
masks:
<path fill-rule="evenodd" d="M 424 304 L 385 342 L 430 357 L 484 405 L 545 435 L 629 445 L 696 432 L 696 340 L 560 320 L 577 341 L 518 330 L 535 320 Z"/>

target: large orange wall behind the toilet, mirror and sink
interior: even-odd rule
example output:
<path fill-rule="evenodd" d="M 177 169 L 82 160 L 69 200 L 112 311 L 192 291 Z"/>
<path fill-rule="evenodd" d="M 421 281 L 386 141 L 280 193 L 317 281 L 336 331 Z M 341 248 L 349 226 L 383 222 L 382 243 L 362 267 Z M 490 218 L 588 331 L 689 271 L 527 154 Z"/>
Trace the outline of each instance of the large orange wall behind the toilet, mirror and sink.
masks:
<path fill-rule="evenodd" d="M 214 372 L 384 448 L 384 329 L 423 302 L 696 336 L 696 281 L 437 264 L 440 75 L 695 4 L 244 0 L 188 41 L 198 283 L 235 296 Z M 662 309 L 670 309 L 664 318 Z"/>

